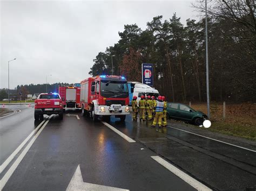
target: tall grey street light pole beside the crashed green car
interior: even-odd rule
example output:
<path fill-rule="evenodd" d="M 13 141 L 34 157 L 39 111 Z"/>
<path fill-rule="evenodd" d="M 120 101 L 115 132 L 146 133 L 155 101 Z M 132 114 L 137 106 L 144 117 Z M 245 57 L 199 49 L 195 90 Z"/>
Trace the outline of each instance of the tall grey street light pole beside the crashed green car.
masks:
<path fill-rule="evenodd" d="M 205 57 L 206 57 L 206 93 L 207 115 L 210 119 L 209 67 L 208 67 L 208 32 L 207 32 L 207 0 L 205 0 Z"/>

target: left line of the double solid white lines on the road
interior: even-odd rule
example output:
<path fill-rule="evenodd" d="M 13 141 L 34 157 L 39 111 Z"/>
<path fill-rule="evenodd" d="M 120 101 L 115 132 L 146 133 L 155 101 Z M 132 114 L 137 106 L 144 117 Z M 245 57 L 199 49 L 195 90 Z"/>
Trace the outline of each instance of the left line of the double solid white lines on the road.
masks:
<path fill-rule="evenodd" d="M 34 135 L 35 132 L 37 132 L 37 130 L 43 125 L 43 123 L 45 122 L 42 121 L 36 129 L 34 129 L 30 135 L 28 137 L 25 138 L 25 140 L 23 140 L 23 142 L 16 148 L 16 150 L 14 152 L 11 153 L 11 155 L 3 162 L 3 164 L 0 166 L 0 174 L 3 172 L 3 170 L 6 168 L 6 166 L 9 165 L 9 163 L 12 161 L 12 159 L 14 159 L 15 155 L 21 151 L 22 147 L 26 144 L 26 142 L 28 142 L 28 140 Z"/>

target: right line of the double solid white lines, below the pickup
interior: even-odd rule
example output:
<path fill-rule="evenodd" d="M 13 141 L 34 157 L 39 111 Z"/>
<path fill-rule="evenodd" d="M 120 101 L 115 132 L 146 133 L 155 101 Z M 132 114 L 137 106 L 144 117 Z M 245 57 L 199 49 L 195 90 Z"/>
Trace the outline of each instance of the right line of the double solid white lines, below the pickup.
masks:
<path fill-rule="evenodd" d="M 43 131 L 43 129 L 45 128 L 45 126 L 48 124 L 48 122 L 50 121 L 52 115 L 48 118 L 48 120 L 44 123 L 44 125 L 42 126 L 41 129 L 39 129 L 39 131 L 36 133 L 36 135 L 30 140 L 30 142 L 28 143 L 28 145 L 26 145 L 26 147 L 24 148 L 24 150 L 22 151 L 22 153 L 19 155 L 19 157 L 16 159 L 16 161 L 14 162 L 14 164 L 11 165 L 11 167 L 8 169 L 8 171 L 4 174 L 3 178 L 0 181 L 0 190 L 3 189 L 3 187 L 5 186 L 5 184 L 8 182 L 8 180 L 10 179 L 12 173 L 14 173 L 15 169 L 17 168 L 17 166 L 19 165 L 19 163 L 22 161 L 22 159 L 25 157 L 26 153 L 29 151 L 30 147 L 33 145 L 33 143 L 35 142 L 36 138 L 40 135 L 40 133 Z"/>

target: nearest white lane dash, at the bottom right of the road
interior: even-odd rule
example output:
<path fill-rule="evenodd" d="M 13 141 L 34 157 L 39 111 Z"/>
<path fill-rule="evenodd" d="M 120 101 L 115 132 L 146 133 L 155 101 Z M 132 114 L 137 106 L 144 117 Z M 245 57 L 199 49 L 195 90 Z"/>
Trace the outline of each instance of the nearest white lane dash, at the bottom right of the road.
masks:
<path fill-rule="evenodd" d="M 192 178 L 190 175 L 187 175 L 183 171 L 180 171 L 179 168 L 171 165 L 166 160 L 162 159 L 159 156 L 151 156 L 152 159 L 156 160 L 160 165 L 163 165 L 165 168 L 169 169 L 173 174 L 177 175 L 180 179 L 187 182 L 190 186 L 197 190 L 212 190 L 208 188 L 207 186 L 203 185 L 203 183 L 197 181 L 196 179 Z"/>

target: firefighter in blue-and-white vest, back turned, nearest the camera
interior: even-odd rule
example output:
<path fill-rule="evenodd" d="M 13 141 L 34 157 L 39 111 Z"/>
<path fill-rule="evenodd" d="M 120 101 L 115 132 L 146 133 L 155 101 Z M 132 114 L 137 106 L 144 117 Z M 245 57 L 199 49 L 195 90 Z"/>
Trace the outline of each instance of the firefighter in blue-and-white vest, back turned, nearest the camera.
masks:
<path fill-rule="evenodd" d="M 156 111 L 156 116 L 154 117 L 154 121 L 152 124 L 152 128 L 156 127 L 156 124 L 158 123 L 158 128 L 156 128 L 156 131 L 160 129 L 161 131 L 161 125 L 162 125 L 162 118 L 164 113 L 164 102 L 162 100 L 162 96 L 158 96 L 158 101 L 154 104 L 154 110 Z"/>

